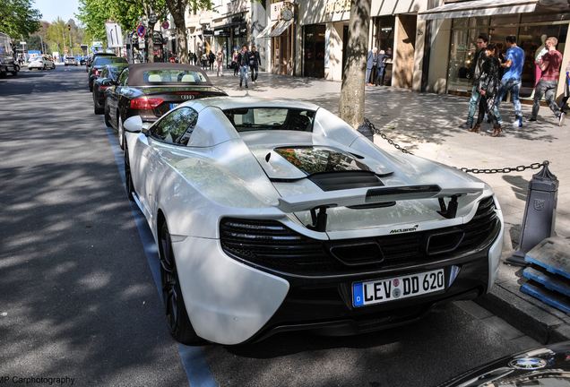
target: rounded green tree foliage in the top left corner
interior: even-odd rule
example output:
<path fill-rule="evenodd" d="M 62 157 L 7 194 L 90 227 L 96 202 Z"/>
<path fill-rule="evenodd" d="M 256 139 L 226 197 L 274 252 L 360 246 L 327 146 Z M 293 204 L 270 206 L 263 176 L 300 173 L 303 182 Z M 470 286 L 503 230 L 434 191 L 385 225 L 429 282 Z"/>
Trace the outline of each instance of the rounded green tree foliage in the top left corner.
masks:
<path fill-rule="evenodd" d="M 20 38 L 39 30 L 41 13 L 33 6 L 33 0 L 2 0 L 0 31 L 12 38 Z"/>

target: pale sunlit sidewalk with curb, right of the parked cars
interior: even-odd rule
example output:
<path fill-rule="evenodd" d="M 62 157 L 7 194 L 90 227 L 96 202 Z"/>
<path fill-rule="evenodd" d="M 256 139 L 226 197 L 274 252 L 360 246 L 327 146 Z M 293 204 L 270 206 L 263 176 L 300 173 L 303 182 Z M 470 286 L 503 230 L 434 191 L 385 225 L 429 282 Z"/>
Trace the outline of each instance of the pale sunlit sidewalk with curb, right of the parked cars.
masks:
<path fill-rule="evenodd" d="M 223 77 L 208 72 L 212 82 L 231 96 L 303 99 L 338 113 L 341 82 L 314 78 L 298 78 L 260 73 L 256 83 L 249 80 L 248 89 L 239 89 L 239 77 L 228 70 Z M 394 142 L 414 154 L 458 168 L 506 168 L 529 166 L 550 161 L 549 169 L 559 181 L 556 231 L 570 236 L 570 163 L 566 161 L 570 144 L 570 120 L 558 127 L 557 119 L 541 107 L 539 120 L 512 127 L 514 109 L 511 103 L 501 105 L 505 121 L 503 136 L 491 137 L 490 124 L 481 133 L 460 129 L 467 116 L 469 99 L 452 95 L 418 93 L 391 87 L 367 86 L 365 116 Z M 528 118 L 531 106 L 522 105 Z M 380 136 L 375 143 L 382 149 L 397 151 Z M 529 181 L 538 170 L 509 174 L 478 174 L 493 187 L 505 217 L 505 249 L 503 258 L 513 253 L 518 244 Z M 501 264 L 499 280 L 480 304 L 505 319 L 525 334 L 541 342 L 570 340 L 570 318 L 567 314 L 522 294 L 521 271 Z"/>

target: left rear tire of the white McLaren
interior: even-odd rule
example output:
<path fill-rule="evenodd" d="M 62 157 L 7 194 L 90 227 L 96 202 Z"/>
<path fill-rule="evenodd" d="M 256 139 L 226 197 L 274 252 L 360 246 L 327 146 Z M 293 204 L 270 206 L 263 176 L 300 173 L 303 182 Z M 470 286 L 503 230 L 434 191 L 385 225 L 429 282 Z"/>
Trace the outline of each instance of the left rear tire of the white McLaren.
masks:
<path fill-rule="evenodd" d="M 168 331 L 175 340 L 183 344 L 203 344 L 204 340 L 200 339 L 194 331 L 186 312 L 166 221 L 162 222 L 159 230 L 159 258 L 162 301 L 167 317 Z"/>

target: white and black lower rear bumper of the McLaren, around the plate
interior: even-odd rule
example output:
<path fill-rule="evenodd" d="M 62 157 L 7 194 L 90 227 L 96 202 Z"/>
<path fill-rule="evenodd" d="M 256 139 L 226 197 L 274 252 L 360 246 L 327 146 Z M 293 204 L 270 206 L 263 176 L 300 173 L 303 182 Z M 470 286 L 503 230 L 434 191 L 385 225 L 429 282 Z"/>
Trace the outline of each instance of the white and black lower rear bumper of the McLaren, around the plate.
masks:
<path fill-rule="evenodd" d="M 502 230 L 502 221 L 499 222 Z M 496 234 L 468 254 L 397 271 L 331 277 L 294 277 L 262 271 L 225 254 L 218 239 L 177 237 L 177 257 L 186 310 L 205 340 L 232 345 L 263 340 L 281 331 L 351 335 L 418 320 L 434 305 L 485 294 L 495 267 Z M 180 240 L 182 239 L 182 240 Z M 445 290 L 376 305 L 352 305 L 353 282 L 444 269 Z"/>

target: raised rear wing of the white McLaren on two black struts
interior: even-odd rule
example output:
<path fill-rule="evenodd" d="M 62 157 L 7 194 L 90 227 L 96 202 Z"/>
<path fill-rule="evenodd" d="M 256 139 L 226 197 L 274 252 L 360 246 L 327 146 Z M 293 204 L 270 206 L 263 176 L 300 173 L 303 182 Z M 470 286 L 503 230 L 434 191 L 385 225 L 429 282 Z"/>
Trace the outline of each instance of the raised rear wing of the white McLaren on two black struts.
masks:
<path fill-rule="evenodd" d="M 457 213 L 457 198 L 467 194 L 481 194 L 484 183 L 466 183 L 461 187 L 440 185 L 398 185 L 376 188 L 355 188 L 324 193 L 301 194 L 279 198 L 277 207 L 283 212 L 311 211 L 313 225 L 308 228 L 324 231 L 326 209 L 332 207 L 363 207 L 400 201 L 438 199 L 440 211 L 445 218 L 454 218 Z M 445 198 L 449 202 L 445 203 Z M 318 210 L 318 213 L 316 212 Z"/>

